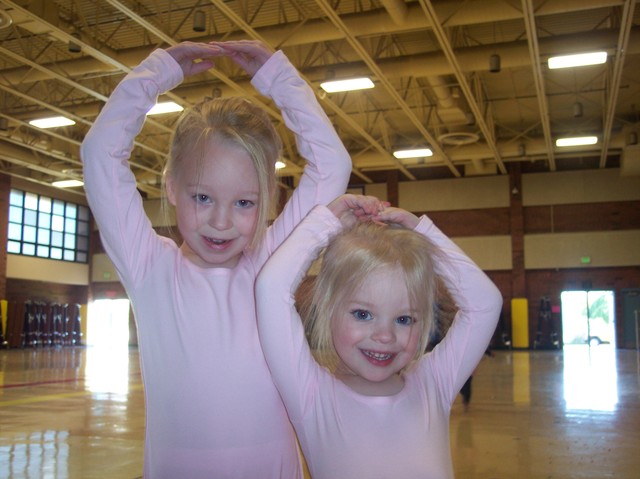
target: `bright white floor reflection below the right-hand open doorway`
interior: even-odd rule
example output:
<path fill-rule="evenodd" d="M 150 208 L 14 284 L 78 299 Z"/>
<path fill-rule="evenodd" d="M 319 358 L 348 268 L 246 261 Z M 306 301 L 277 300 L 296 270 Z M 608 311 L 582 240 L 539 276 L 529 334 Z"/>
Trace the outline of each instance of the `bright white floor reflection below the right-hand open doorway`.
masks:
<path fill-rule="evenodd" d="M 568 411 L 614 411 L 618 404 L 615 349 L 598 346 L 564 347 L 564 400 Z"/>

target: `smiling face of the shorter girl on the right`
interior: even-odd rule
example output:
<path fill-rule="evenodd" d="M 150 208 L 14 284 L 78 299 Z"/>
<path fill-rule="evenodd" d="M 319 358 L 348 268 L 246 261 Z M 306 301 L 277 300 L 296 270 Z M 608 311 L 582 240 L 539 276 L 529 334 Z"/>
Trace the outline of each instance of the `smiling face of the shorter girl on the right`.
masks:
<path fill-rule="evenodd" d="M 399 392 L 399 372 L 415 357 L 422 333 L 400 267 L 369 275 L 332 318 L 331 333 L 340 380 L 367 395 Z"/>

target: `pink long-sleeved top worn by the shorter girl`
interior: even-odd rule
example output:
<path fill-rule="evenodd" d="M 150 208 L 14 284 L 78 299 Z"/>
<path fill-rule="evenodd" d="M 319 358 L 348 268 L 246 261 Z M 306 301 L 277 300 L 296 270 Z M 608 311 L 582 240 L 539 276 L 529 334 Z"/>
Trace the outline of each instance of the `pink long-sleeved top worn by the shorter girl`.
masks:
<path fill-rule="evenodd" d="M 426 216 L 416 231 L 445 254 L 436 265 L 459 306 L 444 340 L 405 374 L 393 396 L 363 396 L 319 366 L 295 309 L 305 271 L 339 221 L 318 206 L 269 259 L 256 283 L 260 340 L 313 479 L 453 477 L 449 413 L 482 358 L 502 297 Z"/>

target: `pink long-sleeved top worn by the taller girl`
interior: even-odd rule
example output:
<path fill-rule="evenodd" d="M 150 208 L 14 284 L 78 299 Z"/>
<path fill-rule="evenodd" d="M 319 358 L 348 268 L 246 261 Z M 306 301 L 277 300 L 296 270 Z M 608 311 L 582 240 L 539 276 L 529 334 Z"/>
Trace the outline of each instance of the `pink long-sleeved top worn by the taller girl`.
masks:
<path fill-rule="evenodd" d="M 254 282 L 316 204 L 344 193 L 350 158 L 282 52 L 253 85 L 281 109 L 307 160 L 264 243 L 233 269 L 202 269 L 145 215 L 127 160 L 146 112 L 183 80 L 156 50 L 116 87 L 81 149 L 85 190 L 132 302 L 146 397 L 145 479 L 299 478 L 295 436 L 258 341 Z"/>

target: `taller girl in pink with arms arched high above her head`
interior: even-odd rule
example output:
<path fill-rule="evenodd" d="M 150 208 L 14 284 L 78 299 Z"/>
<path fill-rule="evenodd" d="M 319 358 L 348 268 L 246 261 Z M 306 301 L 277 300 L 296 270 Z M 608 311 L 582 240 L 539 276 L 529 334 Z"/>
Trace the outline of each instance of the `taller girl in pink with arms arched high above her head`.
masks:
<path fill-rule="evenodd" d="M 280 108 L 307 165 L 267 227 L 281 140 L 245 98 L 178 121 L 164 168 L 181 242 L 152 228 L 128 159 L 158 95 L 228 57 Z M 115 88 L 81 147 L 103 245 L 132 302 L 146 401 L 145 479 L 301 478 L 293 429 L 258 341 L 254 281 L 317 204 L 343 194 L 351 160 L 283 52 L 255 41 L 158 49 Z"/>

